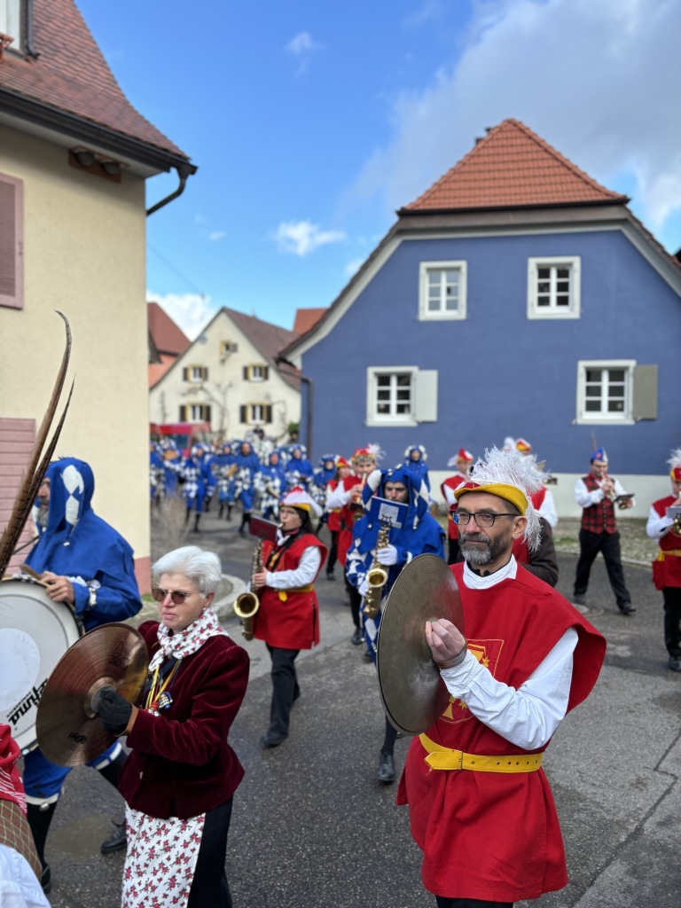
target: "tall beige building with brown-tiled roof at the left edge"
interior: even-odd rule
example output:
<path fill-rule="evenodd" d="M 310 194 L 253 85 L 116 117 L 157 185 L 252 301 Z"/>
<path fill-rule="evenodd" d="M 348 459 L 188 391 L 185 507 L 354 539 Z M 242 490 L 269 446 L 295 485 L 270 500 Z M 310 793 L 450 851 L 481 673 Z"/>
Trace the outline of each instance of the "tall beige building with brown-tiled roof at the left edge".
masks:
<path fill-rule="evenodd" d="M 182 189 L 196 168 L 127 101 L 73 0 L 6 0 L 0 32 L 0 528 L 62 357 L 58 309 L 75 389 L 57 453 L 92 465 L 94 510 L 148 589 L 145 223 L 164 202 L 146 212 L 145 182 L 175 171 Z"/>

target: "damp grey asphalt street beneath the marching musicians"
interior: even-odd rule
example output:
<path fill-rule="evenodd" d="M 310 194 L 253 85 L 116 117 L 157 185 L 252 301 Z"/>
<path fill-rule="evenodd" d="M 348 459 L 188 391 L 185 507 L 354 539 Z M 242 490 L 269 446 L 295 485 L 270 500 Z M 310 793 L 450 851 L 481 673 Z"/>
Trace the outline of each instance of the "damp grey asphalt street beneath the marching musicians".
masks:
<path fill-rule="evenodd" d="M 238 523 L 202 519 L 187 540 L 212 548 L 232 593 L 249 573 L 252 538 Z M 324 538 L 324 534 L 322 534 Z M 182 544 L 178 538 L 176 544 Z M 576 558 L 559 556 L 558 589 L 570 596 Z M 337 571 L 338 574 L 338 571 Z M 662 598 L 648 568 L 627 566 L 637 613 L 622 617 L 603 562 L 593 568 L 587 607 L 607 637 L 607 657 L 587 702 L 568 716 L 548 748 L 551 782 L 568 854 L 570 883 L 541 908 L 679 908 L 681 862 L 681 674 L 666 667 Z M 321 646 L 301 652 L 302 696 L 291 734 L 262 750 L 268 725 L 269 656 L 249 650 L 251 680 L 232 729 L 246 770 L 234 797 L 227 873 L 235 908 L 420 908 L 435 899 L 420 883 L 419 849 L 395 785 L 375 777 L 384 720 L 375 670 L 350 644 L 350 610 L 339 579 L 321 577 Z M 410 739 L 399 739 L 399 770 Z M 114 788 L 91 769 L 69 776 L 48 839 L 54 908 L 116 908 L 123 854 L 99 845 L 123 814 Z"/>

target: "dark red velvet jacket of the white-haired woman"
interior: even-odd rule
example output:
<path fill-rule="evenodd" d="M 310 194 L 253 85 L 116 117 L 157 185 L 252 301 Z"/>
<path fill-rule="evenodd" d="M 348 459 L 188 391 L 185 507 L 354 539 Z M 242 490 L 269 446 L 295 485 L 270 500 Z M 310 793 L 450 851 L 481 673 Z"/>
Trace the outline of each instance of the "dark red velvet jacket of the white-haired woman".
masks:
<path fill-rule="evenodd" d="M 155 621 L 139 629 L 149 656 L 158 649 Z M 249 656 L 231 637 L 210 637 L 182 666 L 160 716 L 141 709 L 128 735 L 133 748 L 118 785 L 144 814 L 186 819 L 228 801 L 243 767 L 227 735 L 248 684 Z"/>

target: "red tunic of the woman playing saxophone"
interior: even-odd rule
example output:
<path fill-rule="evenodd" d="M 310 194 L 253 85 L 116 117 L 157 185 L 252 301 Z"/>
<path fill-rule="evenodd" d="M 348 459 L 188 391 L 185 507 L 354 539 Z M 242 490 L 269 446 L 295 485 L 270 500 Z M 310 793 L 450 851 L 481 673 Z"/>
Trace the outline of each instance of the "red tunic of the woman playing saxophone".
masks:
<path fill-rule="evenodd" d="M 294 570 L 300 563 L 302 553 L 311 546 L 320 549 L 321 570 L 326 558 L 326 548 L 311 534 L 297 538 L 289 548 L 285 548 L 281 558 L 272 568 L 268 567 L 268 560 L 274 544 L 269 541 L 263 542 L 263 564 L 272 573 Z M 315 580 L 318 575 L 319 571 L 315 575 Z M 304 590 L 262 587 L 259 598 L 260 608 L 253 616 L 253 637 L 280 649 L 311 649 L 320 642 L 320 607 L 312 586 Z"/>

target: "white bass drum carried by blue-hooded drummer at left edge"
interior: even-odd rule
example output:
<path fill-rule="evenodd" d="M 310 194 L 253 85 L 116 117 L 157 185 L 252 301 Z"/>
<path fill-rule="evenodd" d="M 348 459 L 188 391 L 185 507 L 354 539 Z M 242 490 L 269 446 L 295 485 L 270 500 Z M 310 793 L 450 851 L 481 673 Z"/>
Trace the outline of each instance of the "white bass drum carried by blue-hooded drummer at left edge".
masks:
<path fill-rule="evenodd" d="M 23 751 L 36 744 L 35 716 L 47 678 L 81 636 L 74 613 L 35 580 L 0 583 L 0 724 Z"/>

